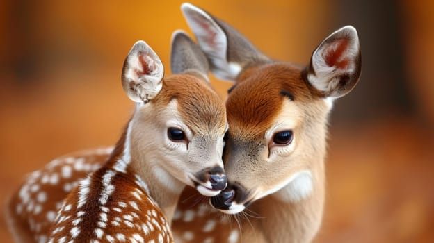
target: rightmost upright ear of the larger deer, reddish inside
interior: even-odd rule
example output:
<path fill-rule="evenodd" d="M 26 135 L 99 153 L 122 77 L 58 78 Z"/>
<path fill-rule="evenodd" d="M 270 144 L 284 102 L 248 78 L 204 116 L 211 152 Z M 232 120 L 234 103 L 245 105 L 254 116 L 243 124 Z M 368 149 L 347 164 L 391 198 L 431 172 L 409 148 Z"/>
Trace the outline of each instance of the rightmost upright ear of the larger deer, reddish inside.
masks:
<path fill-rule="evenodd" d="M 344 26 L 316 47 L 307 79 L 325 97 L 343 97 L 359 81 L 361 62 L 357 31 L 353 26 Z"/>

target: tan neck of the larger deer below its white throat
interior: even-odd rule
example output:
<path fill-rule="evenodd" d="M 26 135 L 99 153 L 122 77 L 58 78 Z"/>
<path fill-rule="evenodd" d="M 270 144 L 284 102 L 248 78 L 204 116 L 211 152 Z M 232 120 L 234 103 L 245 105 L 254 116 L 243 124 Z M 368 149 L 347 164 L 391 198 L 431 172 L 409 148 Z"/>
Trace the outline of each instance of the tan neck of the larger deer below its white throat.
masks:
<path fill-rule="evenodd" d="M 262 219 L 257 224 L 268 242 L 311 242 L 319 230 L 324 205 L 324 167 L 319 161 L 312 168 L 312 190 L 298 200 L 282 200 L 287 197 L 284 190 L 294 190 L 287 185 L 279 192 L 259 200 L 252 210 L 259 212 Z"/>

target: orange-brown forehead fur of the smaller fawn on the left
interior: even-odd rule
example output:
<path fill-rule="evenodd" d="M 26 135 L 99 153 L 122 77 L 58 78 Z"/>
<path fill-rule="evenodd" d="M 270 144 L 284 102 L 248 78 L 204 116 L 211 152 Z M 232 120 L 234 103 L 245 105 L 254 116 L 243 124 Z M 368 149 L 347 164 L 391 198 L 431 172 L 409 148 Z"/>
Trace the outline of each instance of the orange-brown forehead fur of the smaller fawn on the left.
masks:
<path fill-rule="evenodd" d="M 164 109 L 172 99 L 176 99 L 179 115 L 193 133 L 225 130 L 225 103 L 206 81 L 187 74 L 165 78 L 157 107 Z"/>

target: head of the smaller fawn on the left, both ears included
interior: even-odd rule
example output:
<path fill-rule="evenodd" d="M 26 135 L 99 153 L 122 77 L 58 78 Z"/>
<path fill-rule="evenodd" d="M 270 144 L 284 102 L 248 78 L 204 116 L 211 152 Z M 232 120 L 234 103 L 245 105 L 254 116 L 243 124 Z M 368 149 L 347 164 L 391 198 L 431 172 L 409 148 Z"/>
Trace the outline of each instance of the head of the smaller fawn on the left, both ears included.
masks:
<path fill-rule="evenodd" d="M 215 196 L 226 186 L 221 159 L 227 130 L 225 105 L 211 89 L 208 62 L 184 33 L 172 36 L 172 75 L 143 41 L 132 47 L 122 70 L 122 85 L 137 103 L 125 136 L 124 160 L 151 163 L 134 169 L 157 174 L 160 183 L 178 181 Z M 125 149 L 124 149 L 125 150 Z M 124 156 L 125 157 L 125 156 Z M 170 185 L 168 185 L 170 187 Z"/>

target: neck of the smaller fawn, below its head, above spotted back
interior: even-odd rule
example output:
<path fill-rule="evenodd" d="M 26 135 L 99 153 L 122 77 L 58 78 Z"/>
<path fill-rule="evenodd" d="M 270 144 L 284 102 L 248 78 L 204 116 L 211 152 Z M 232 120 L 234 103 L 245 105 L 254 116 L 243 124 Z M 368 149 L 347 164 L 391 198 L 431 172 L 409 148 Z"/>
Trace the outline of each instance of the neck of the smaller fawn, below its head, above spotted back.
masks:
<path fill-rule="evenodd" d="M 134 144 L 131 143 L 133 126 L 134 118 L 129 121 L 106 165 L 134 181 L 161 208 L 168 222 L 171 222 L 184 184 L 160 166 L 164 161 L 147 159 L 150 158 L 147 154 L 152 151 L 138 149 L 138 152 L 131 147 Z"/>

